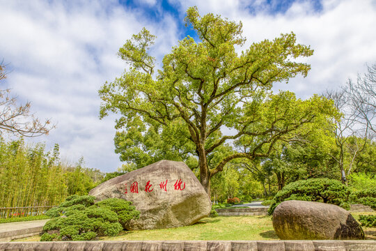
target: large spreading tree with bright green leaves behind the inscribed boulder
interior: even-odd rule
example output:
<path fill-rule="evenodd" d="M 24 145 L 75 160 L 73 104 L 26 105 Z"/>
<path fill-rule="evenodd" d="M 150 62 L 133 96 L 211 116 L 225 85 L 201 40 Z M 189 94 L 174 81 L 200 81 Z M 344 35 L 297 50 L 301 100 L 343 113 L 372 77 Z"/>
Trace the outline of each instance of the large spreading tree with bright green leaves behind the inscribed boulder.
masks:
<path fill-rule="evenodd" d="M 313 50 L 297 44 L 294 33 L 240 52 L 245 42 L 241 22 L 211 13 L 201 17 L 194 7 L 185 20 L 200 41 L 181 40 L 158 70 L 148 54 L 155 36 L 143 29 L 126 41 L 118 54 L 130 68 L 100 89 L 100 116 L 122 115 L 116 121 L 116 148 L 129 153 L 122 154 L 124 161 L 150 158 L 146 155 L 155 160 L 166 151 L 183 160 L 195 155 L 210 195 L 210 177 L 226 163 L 268 155 L 276 142 L 295 139 L 301 126 L 331 104 L 318 96 L 302 101 L 293 93 L 271 93 L 273 83 L 306 76 L 310 69 L 295 61 Z M 232 148 L 234 140 L 237 147 Z"/>

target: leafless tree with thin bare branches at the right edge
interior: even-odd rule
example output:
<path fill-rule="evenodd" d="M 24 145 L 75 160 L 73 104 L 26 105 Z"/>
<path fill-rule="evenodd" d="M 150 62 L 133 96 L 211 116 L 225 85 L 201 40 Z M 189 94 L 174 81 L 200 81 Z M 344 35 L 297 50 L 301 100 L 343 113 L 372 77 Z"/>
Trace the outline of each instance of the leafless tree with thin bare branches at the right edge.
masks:
<path fill-rule="evenodd" d="M 368 67 L 368 73 L 358 75 L 356 84 L 349 79 L 340 90 L 327 91 L 324 96 L 333 100 L 342 114 L 332 121 L 331 132 L 338 153 L 331 157 L 340 167 L 342 182 L 347 183 L 346 176 L 352 172 L 354 160 L 376 132 L 376 64 Z M 346 163 L 345 154 L 348 156 Z"/>

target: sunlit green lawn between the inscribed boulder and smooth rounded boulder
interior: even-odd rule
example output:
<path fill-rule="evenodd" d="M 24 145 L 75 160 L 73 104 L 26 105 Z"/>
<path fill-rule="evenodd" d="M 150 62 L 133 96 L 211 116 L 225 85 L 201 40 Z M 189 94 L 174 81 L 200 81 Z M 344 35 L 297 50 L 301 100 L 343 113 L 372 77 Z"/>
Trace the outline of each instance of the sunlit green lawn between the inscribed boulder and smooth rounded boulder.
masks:
<path fill-rule="evenodd" d="M 269 216 L 204 218 L 195 225 L 172 229 L 123 231 L 103 241 L 157 240 L 278 240 Z"/>

